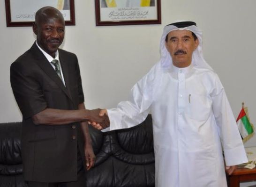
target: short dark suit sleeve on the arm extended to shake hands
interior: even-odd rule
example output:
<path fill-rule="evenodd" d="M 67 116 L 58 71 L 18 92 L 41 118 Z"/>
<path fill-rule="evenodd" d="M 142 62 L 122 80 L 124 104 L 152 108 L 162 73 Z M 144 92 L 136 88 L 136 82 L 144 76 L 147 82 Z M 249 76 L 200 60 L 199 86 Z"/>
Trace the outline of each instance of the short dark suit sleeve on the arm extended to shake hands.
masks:
<path fill-rule="evenodd" d="M 10 80 L 15 100 L 25 119 L 47 108 L 41 86 L 29 67 L 14 62 L 10 68 Z"/>

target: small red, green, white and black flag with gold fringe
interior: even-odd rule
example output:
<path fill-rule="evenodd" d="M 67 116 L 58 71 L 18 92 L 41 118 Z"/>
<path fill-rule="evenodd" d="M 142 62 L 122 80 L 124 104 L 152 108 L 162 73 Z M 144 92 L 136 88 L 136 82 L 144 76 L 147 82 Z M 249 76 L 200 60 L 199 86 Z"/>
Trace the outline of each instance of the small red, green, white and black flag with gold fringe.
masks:
<path fill-rule="evenodd" d="M 236 124 L 243 139 L 243 142 L 246 142 L 254 135 L 253 126 L 250 123 L 244 108 L 241 109 L 240 114 L 237 117 Z"/>

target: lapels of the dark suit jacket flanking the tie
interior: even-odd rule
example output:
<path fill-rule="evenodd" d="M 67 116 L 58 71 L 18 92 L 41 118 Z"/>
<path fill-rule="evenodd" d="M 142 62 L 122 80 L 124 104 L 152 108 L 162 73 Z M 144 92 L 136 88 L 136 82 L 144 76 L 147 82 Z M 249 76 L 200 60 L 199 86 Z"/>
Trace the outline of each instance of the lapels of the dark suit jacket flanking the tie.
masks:
<path fill-rule="evenodd" d="M 66 88 L 61 81 L 58 74 L 54 71 L 53 67 L 50 65 L 47 58 L 45 58 L 44 54 L 38 49 L 38 46 L 36 43 L 32 45 L 30 48 L 32 55 L 34 55 L 34 58 L 36 59 L 36 63 L 38 66 L 60 87 L 60 89 L 68 96 L 68 98 L 72 101 L 69 89 Z M 63 59 L 60 59 L 61 61 L 61 68 L 64 75 L 64 80 L 66 86 L 68 85 L 68 67 L 64 62 L 62 62 Z M 73 101 L 72 101 L 73 102 Z"/>

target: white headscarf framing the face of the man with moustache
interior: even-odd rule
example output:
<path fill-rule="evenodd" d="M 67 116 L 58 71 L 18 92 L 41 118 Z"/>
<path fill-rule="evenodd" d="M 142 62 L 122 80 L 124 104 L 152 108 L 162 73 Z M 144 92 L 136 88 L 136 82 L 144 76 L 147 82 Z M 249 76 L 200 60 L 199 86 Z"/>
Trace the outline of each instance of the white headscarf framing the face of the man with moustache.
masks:
<path fill-rule="evenodd" d="M 208 65 L 203 58 L 203 48 L 202 48 L 203 33 L 195 25 L 191 25 L 191 26 L 184 27 L 184 28 L 178 28 L 174 25 L 167 25 L 164 28 L 164 32 L 163 32 L 163 35 L 162 35 L 161 41 L 160 41 L 160 51 L 161 51 L 160 63 L 162 65 L 162 67 L 169 68 L 173 65 L 172 57 L 171 57 L 170 53 L 168 52 L 168 50 L 166 49 L 166 36 L 172 30 L 184 30 L 184 29 L 190 30 L 191 32 L 193 32 L 199 40 L 199 45 L 196 48 L 196 50 L 194 50 L 193 55 L 192 55 L 192 64 L 194 65 L 194 67 L 202 67 L 202 68 L 212 70 L 211 66 Z"/>

